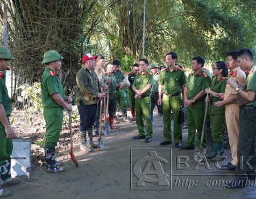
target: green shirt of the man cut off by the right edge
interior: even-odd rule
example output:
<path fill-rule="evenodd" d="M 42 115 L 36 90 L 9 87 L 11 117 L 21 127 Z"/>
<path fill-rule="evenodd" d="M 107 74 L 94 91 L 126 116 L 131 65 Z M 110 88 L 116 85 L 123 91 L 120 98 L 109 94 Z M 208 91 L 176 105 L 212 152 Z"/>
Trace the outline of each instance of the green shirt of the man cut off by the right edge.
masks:
<path fill-rule="evenodd" d="M 243 85 L 243 90 L 254 90 L 254 92 L 256 92 L 256 64 L 252 65 L 247 70 L 247 76 L 245 84 Z M 256 101 L 246 103 L 246 106 L 256 107 Z"/>

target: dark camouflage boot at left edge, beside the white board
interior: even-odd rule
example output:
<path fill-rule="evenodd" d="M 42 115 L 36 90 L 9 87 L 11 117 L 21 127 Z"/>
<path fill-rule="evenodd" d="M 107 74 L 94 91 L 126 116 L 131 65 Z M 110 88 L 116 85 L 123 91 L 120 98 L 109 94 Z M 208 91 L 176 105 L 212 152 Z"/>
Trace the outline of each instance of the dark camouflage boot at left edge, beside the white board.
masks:
<path fill-rule="evenodd" d="M 5 160 L 5 163 L 1 164 L 1 180 L 2 188 L 19 183 L 19 177 L 11 177 L 11 159 Z"/>

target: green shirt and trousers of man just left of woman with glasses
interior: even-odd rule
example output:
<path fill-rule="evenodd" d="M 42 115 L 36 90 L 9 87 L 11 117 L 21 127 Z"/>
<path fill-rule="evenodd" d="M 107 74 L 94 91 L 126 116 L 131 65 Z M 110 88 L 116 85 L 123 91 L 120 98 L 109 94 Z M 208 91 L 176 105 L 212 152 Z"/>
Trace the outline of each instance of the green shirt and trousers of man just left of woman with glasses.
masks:
<path fill-rule="evenodd" d="M 195 72 L 190 73 L 188 76 L 186 88 L 187 88 L 187 98 L 193 99 L 202 90 L 205 90 L 210 86 L 210 77 L 207 71 L 201 69 L 198 74 Z M 205 95 L 206 96 L 206 95 Z M 200 147 L 201 135 L 203 130 L 204 122 L 204 112 L 205 112 L 205 97 L 201 97 L 196 102 L 193 103 L 192 107 L 187 107 L 187 119 L 188 119 L 188 138 L 187 147 L 195 147 L 195 133 L 197 130 L 197 140 L 196 145 Z M 206 139 L 204 136 L 203 147 L 206 147 Z"/>

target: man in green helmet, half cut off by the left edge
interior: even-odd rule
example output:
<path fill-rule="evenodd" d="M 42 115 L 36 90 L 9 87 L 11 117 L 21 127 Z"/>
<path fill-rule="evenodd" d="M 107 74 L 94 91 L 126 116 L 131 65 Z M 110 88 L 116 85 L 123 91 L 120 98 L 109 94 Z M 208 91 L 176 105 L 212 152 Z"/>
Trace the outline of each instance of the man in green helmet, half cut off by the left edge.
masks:
<path fill-rule="evenodd" d="M 0 46 L 0 71 L 9 70 L 10 60 L 14 60 L 8 48 Z M 11 99 L 5 85 L 5 75 L 0 72 L 0 197 L 10 196 L 9 190 L 2 188 L 19 183 L 19 178 L 11 177 L 11 153 L 13 151 L 13 140 L 15 133 L 10 126 L 9 116 L 11 114 Z"/>

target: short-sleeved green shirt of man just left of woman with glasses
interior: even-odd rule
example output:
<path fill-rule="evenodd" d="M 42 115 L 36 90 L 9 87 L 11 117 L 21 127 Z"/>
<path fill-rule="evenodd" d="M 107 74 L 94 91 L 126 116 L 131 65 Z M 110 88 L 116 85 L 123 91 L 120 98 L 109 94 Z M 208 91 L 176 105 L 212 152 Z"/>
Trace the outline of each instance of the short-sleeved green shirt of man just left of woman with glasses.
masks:
<path fill-rule="evenodd" d="M 201 69 L 198 74 L 195 72 L 190 73 L 186 84 L 188 99 L 193 99 L 202 90 L 208 88 L 208 86 L 210 86 L 210 77 L 204 69 Z M 204 100 L 205 98 L 201 97 L 198 101 Z"/>

